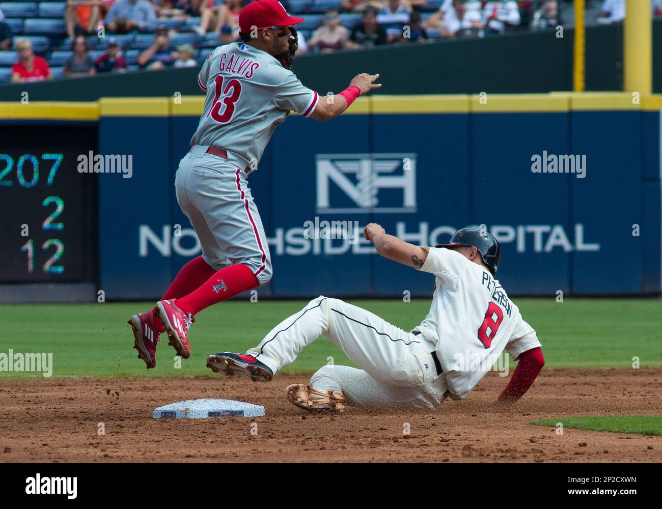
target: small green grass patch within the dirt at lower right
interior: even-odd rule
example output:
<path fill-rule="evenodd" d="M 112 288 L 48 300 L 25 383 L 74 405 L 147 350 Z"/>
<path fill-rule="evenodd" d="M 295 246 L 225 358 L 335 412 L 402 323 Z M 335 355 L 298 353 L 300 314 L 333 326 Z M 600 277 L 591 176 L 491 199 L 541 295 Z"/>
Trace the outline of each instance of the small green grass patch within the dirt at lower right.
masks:
<path fill-rule="evenodd" d="M 576 428 L 578 430 L 662 436 L 662 416 L 659 415 L 563 417 L 559 419 L 538 419 L 531 424 L 555 427 L 558 422 L 561 422 L 564 428 Z"/>

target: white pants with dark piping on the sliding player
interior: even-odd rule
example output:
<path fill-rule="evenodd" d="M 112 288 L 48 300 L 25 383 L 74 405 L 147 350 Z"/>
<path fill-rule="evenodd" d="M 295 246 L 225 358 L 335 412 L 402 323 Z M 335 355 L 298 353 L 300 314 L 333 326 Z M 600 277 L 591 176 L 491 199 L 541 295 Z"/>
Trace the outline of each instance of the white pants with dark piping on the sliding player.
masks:
<path fill-rule="evenodd" d="M 320 296 L 275 326 L 250 349 L 273 373 L 324 334 L 361 369 L 326 365 L 310 379 L 318 391 L 341 391 L 348 404 L 436 408 L 446 380 L 437 375 L 434 344 L 393 326 L 379 316 L 338 299 Z"/>

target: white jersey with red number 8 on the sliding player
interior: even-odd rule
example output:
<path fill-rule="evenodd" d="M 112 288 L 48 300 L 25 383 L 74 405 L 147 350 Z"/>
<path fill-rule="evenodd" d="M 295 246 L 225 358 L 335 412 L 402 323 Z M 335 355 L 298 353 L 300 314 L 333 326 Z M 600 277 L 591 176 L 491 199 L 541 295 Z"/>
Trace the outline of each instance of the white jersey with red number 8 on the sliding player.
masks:
<path fill-rule="evenodd" d="M 422 246 L 421 246 L 422 247 Z M 513 359 L 540 342 L 485 267 L 446 248 L 426 248 L 420 270 L 436 276 L 432 306 L 416 328 L 436 344 L 453 398 L 464 398 L 505 348 Z"/>

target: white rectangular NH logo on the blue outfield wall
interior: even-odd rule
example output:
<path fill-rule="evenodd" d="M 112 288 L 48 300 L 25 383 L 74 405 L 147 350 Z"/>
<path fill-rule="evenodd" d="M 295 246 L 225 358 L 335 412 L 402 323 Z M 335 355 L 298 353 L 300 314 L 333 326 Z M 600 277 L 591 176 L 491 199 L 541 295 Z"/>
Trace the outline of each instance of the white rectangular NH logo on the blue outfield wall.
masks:
<path fill-rule="evenodd" d="M 416 212 L 416 154 L 318 154 L 315 163 L 318 214 Z"/>

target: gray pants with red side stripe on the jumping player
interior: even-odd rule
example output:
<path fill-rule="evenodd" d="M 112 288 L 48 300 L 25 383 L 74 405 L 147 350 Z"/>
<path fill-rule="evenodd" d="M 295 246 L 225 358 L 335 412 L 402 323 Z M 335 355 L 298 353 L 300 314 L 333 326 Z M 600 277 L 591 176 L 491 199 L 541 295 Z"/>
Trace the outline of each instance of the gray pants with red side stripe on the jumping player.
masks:
<path fill-rule="evenodd" d="M 265 285 L 271 257 L 260 212 L 246 181 L 246 161 L 228 152 L 223 159 L 197 145 L 179 163 L 177 203 L 191 221 L 203 259 L 216 270 L 243 263 Z"/>

